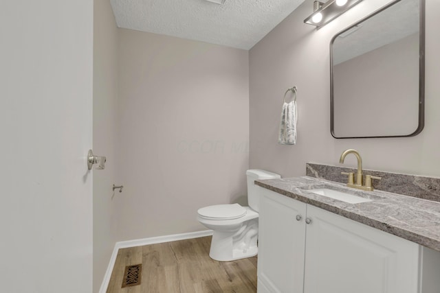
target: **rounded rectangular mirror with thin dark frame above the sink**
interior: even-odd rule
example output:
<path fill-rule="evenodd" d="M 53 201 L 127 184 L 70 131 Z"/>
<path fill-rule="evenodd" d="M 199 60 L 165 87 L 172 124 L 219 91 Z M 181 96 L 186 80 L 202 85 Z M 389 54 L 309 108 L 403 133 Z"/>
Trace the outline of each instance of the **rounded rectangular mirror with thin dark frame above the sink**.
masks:
<path fill-rule="evenodd" d="M 424 0 L 393 1 L 333 37 L 333 137 L 410 137 L 421 132 L 423 8 Z"/>

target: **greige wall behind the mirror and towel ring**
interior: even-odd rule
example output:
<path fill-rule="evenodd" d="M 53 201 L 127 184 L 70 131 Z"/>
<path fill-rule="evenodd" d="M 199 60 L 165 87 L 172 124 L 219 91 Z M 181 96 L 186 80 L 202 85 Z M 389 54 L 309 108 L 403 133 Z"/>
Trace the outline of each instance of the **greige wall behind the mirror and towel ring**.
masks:
<path fill-rule="evenodd" d="M 439 1 L 426 1 L 426 125 L 410 138 L 334 139 L 330 134 L 329 43 L 344 27 L 389 1 L 362 1 L 320 30 L 305 25 L 305 1 L 250 50 L 250 167 L 283 176 L 305 175 L 305 163 L 338 164 L 347 148 L 360 151 L 364 167 L 439 176 Z M 297 145 L 277 143 L 283 94 L 298 86 Z M 355 157 L 346 165 L 355 167 Z"/>

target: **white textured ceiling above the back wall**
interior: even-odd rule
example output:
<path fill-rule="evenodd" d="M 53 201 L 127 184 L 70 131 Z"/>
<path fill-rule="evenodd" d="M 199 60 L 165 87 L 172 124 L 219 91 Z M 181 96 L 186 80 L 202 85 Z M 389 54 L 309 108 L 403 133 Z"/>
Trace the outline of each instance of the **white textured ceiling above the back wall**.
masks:
<path fill-rule="evenodd" d="M 111 0 L 111 6 L 118 27 L 248 50 L 303 1 Z"/>

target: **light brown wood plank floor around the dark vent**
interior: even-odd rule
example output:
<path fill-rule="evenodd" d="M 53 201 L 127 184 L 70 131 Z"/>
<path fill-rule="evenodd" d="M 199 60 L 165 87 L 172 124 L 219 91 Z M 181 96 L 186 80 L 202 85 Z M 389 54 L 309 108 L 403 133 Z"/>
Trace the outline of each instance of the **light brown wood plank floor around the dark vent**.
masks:
<path fill-rule="evenodd" d="M 123 248 L 107 293 L 256 292 L 256 257 L 214 261 L 211 237 Z M 122 287 L 126 266 L 142 263 L 140 285 Z"/>

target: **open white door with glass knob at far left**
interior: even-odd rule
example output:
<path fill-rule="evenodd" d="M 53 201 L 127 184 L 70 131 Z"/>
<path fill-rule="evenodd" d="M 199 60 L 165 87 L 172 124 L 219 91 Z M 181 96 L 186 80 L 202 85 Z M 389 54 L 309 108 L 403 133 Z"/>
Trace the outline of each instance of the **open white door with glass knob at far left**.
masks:
<path fill-rule="evenodd" d="M 91 292 L 93 1 L 0 3 L 1 292 Z"/>

